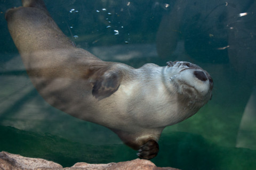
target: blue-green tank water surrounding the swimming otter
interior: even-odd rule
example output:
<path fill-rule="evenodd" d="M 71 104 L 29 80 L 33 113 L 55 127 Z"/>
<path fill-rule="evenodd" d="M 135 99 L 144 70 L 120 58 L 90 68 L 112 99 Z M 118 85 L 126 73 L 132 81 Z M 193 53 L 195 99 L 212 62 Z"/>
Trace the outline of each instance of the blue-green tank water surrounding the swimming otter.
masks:
<path fill-rule="evenodd" d="M 195 115 L 164 128 L 159 152 L 150 159 L 156 166 L 256 169 L 255 1 L 44 3 L 74 46 L 103 61 L 136 69 L 147 63 L 186 61 L 211 75 L 211 100 Z M 6 10 L 19 6 L 19 0 L 0 0 L 0 151 L 52 160 L 63 167 L 138 158 L 138 151 L 110 129 L 62 112 L 39 94 L 5 20 Z M 157 89 L 152 90 L 154 94 Z"/>

